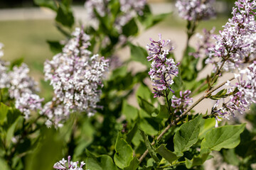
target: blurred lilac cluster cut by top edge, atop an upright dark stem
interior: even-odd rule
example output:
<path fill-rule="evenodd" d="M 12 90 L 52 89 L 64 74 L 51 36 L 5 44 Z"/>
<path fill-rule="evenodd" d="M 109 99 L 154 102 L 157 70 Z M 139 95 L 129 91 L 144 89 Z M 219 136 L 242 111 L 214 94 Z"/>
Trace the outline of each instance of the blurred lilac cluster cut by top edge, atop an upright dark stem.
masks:
<path fill-rule="evenodd" d="M 188 21 L 208 20 L 215 16 L 215 0 L 177 0 L 176 8 L 181 18 Z"/>

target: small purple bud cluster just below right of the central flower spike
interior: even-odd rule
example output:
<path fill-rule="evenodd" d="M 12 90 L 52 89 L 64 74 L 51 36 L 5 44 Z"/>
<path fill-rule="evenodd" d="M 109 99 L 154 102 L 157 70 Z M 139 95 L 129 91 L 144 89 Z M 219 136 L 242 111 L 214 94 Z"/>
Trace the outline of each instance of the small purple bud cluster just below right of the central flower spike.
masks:
<path fill-rule="evenodd" d="M 180 97 L 172 96 L 171 98 L 171 107 L 175 108 L 174 113 L 183 113 L 186 111 L 188 106 L 193 102 L 193 98 L 190 98 L 189 95 L 191 91 L 186 90 L 184 92 L 180 91 Z"/>

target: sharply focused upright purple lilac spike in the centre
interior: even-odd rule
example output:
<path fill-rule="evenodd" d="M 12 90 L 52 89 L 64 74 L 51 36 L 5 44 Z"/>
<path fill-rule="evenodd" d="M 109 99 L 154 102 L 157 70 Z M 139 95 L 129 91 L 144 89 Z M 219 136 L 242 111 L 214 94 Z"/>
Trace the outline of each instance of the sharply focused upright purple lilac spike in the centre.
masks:
<path fill-rule="evenodd" d="M 168 59 L 166 55 L 169 54 L 174 47 L 169 47 L 170 40 L 161 40 L 161 34 L 159 34 L 159 40 L 151 41 L 146 47 L 149 50 L 149 56 L 146 57 L 148 61 L 151 61 L 151 69 L 149 75 L 151 80 L 154 82 L 152 85 L 154 88 L 154 97 L 164 96 L 163 91 L 171 89 L 171 84 L 174 84 L 174 80 L 171 76 L 178 75 L 178 67 L 173 59 Z M 166 50 L 164 49 L 166 48 Z"/>

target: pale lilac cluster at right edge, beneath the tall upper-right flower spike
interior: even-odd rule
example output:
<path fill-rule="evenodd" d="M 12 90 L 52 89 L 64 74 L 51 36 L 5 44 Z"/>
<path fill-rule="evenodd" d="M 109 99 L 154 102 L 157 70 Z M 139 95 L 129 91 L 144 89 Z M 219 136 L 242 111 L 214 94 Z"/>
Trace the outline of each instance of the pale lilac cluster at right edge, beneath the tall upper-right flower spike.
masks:
<path fill-rule="evenodd" d="M 256 61 L 246 69 L 240 70 L 240 74 L 235 74 L 238 82 L 234 85 L 230 81 L 226 85 L 231 86 L 228 93 L 232 94 L 228 101 L 223 98 L 222 107 L 217 108 L 220 101 L 218 100 L 213 106 L 212 113 L 221 118 L 235 116 L 235 113 L 244 113 L 252 103 L 256 103 Z M 238 89 L 238 90 L 236 90 Z M 235 91 L 235 93 L 234 93 Z"/>

